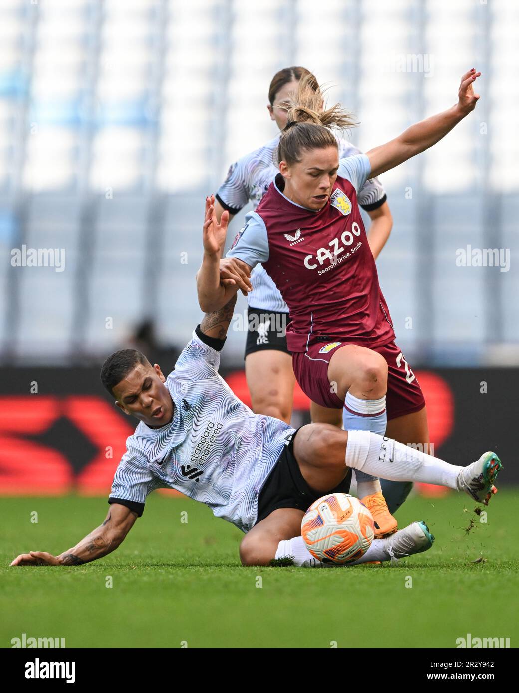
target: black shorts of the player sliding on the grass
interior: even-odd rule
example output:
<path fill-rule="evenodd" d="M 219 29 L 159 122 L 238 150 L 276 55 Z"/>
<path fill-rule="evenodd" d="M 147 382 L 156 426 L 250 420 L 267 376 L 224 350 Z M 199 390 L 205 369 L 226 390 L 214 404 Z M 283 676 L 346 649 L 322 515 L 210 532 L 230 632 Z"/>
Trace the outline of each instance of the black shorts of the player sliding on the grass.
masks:
<path fill-rule="evenodd" d="M 255 525 L 278 508 L 297 508 L 306 512 L 314 501 L 321 498 L 321 495 L 350 492 L 350 468 L 341 483 L 330 491 L 315 491 L 305 482 L 297 459 L 293 455 L 293 441 L 298 430 L 293 433 L 289 444 L 284 446 L 262 490 L 259 491 Z"/>

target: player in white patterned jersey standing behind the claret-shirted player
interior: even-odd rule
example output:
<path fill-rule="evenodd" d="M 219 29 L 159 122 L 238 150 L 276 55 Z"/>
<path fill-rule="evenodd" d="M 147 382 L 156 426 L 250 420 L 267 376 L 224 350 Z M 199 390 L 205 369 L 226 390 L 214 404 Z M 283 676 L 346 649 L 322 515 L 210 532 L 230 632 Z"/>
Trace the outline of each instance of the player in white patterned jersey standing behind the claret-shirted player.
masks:
<path fill-rule="evenodd" d="M 297 91 L 303 76 L 318 89 L 316 78 L 305 67 L 287 67 L 276 73 L 269 87 L 269 113 L 280 130 L 287 125 L 287 99 Z M 275 152 L 280 135 L 259 149 L 249 152 L 229 168 L 228 176 L 215 195 L 216 219 L 223 211 L 232 218 L 248 202 L 254 207 L 261 202 L 269 189 L 278 167 Z M 344 159 L 360 150 L 346 139 L 338 139 L 339 158 Z M 377 258 L 384 247 L 393 220 L 386 194 L 375 178 L 366 181 L 359 193 L 359 204 L 371 217 L 368 242 Z M 249 327 L 245 348 L 245 373 L 250 391 L 252 409 L 255 414 L 267 414 L 276 419 L 290 422 L 293 407 L 292 359 L 287 348 L 285 329 L 289 322 L 289 309 L 280 291 L 262 265 L 257 265 L 251 274 L 253 290 L 248 294 Z M 341 426 L 341 411 L 311 405 L 312 421 Z"/>

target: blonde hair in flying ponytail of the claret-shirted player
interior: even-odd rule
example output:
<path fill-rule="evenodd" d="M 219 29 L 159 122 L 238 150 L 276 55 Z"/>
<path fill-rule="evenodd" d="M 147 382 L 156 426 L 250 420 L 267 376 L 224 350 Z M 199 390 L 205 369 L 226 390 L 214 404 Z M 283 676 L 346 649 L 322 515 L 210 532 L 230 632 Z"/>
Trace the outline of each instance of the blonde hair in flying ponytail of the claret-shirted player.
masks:
<path fill-rule="evenodd" d="M 346 130 L 357 124 L 340 103 L 327 108 L 315 77 L 305 75 L 299 82 L 297 94 L 289 100 L 287 127 L 278 145 L 278 162 L 295 164 L 301 160 L 303 150 L 337 147 L 332 128 Z"/>

